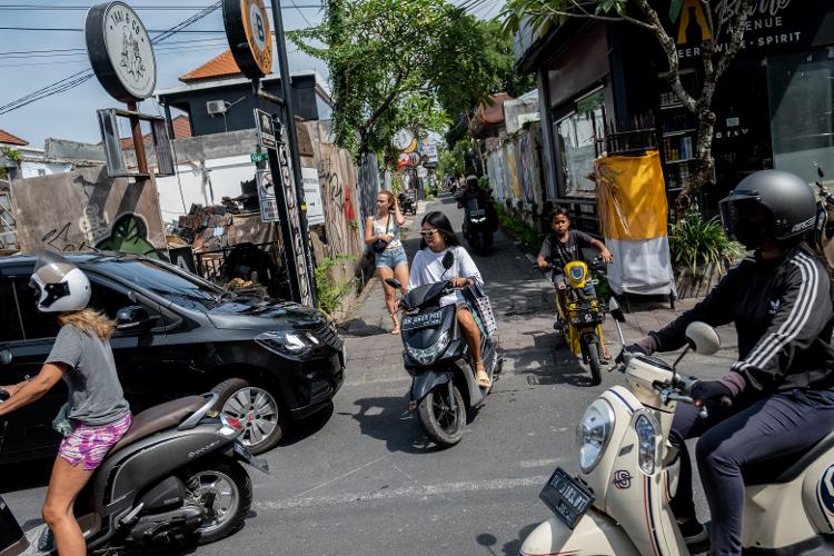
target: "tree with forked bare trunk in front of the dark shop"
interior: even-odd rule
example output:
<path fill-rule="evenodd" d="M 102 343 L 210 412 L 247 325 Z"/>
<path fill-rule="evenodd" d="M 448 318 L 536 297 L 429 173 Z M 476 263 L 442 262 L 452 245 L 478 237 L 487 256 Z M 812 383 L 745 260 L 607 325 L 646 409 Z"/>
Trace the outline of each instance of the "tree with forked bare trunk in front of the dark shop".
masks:
<path fill-rule="evenodd" d="M 711 38 L 701 47 L 703 86 L 697 95 L 687 91 L 681 82 L 681 62 L 675 39 L 664 29 L 661 16 L 649 0 L 508 0 L 502 16 L 506 36 L 528 27 L 534 32 L 547 33 L 552 28 L 572 18 L 595 19 L 633 24 L 654 33 L 666 56 L 669 87 L 681 103 L 693 112 L 698 122 L 697 147 L 695 149 L 695 171 L 689 176 L 675 201 L 678 215 L 692 210 L 692 199 L 708 183 L 713 176 L 713 132 L 715 112 L 713 98 L 721 77 L 744 44 L 744 30 L 747 17 L 753 11 L 755 0 L 735 0 L 722 16 L 718 26 L 713 20 L 711 0 L 698 0 L 706 14 Z M 684 0 L 671 0 L 669 17 L 676 20 Z"/>

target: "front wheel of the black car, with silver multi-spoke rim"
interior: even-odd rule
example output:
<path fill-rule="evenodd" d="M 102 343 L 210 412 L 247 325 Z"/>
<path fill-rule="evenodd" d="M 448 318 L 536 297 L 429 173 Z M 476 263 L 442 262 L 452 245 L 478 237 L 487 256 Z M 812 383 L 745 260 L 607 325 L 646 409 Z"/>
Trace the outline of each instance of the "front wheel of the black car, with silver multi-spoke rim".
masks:
<path fill-rule="evenodd" d="M 287 429 L 287 415 L 276 396 L 242 378 L 229 378 L 211 389 L 217 407 L 244 424 L 240 441 L 252 454 L 274 448 Z"/>

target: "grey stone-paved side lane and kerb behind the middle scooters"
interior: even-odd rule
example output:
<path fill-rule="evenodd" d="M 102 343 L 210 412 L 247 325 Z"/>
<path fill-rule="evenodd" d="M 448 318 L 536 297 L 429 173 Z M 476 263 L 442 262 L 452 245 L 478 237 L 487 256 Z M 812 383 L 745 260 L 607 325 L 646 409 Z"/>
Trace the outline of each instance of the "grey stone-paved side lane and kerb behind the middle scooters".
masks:
<path fill-rule="evenodd" d="M 423 208 L 423 207 L 421 207 Z M 443 210 L 458 231 L 463 222 L 463 210 L 457 209 L 449 196 L 425 207 L 426 210 Z M 419 248 L 419 221 L 423 210 L 407 224 L 407 239 L 404 241 L 409 260 Z M 466 240 L 458 238 L 465 247 Z M 495 238 L 493 252 L 487 257 L 471 254 L 485 279 L 485 288 L 490 297 L 498 321 L 498 338 L 507 358 L 504 371 L 524 371 L 528 380 L 547 381 L 559 366 L 572 366 L 576 373 L 567 380 L 582 384 L 587 373 L 577 367 L 576 357 L 567 349 L 555 349 L 553 331 L 554 291 L 545 277 L 533 269 L 532 259 L 523 254 L 516 242 L 504 231 Z M 668 304 L 632 301 L 632 312 L 626 315 L 623 334 L 626 341 L 644 336 L 648 330 L 658 329 L 676 315 L 688 309 L 695 300 L 678 300 L 675 309 Z M 354 384 L 405 380 L 403 370 L 403 345 L 399 336 L 389 334 L 390 318 L 385 309 L 383 289 L 374 278 L 363 295 L 348 311 L 340 329 L 347 350 L 347 381 Z M 608 350 L 619 351 L 618 335 L 613 319 L 604 325 Z M 722 339 L 731 342 L 734 339 Z"/>

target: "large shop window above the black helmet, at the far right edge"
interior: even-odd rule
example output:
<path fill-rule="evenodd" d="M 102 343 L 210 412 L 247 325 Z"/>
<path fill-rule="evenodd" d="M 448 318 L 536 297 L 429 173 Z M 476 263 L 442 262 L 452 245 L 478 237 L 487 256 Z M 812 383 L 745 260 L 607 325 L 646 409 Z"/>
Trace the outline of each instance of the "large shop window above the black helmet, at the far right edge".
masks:
<path fill-rule="evenodd" d="M 834 49 L 767 58 L 774 167 L 834 176 Z"/>

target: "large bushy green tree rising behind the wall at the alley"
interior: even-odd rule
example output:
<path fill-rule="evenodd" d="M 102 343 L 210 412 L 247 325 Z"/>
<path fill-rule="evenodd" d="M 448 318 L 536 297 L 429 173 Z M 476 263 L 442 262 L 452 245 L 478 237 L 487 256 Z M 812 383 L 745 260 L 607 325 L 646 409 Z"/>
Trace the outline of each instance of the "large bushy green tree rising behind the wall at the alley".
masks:
<path fill-rule="evenodd" d="M 398 129 L 443 131 L 504 85 L 498 31 L 445 0 L 331 0 L 325 23 L 288 36 L 330 69 L 336 142 L 389 159 Z"/>

